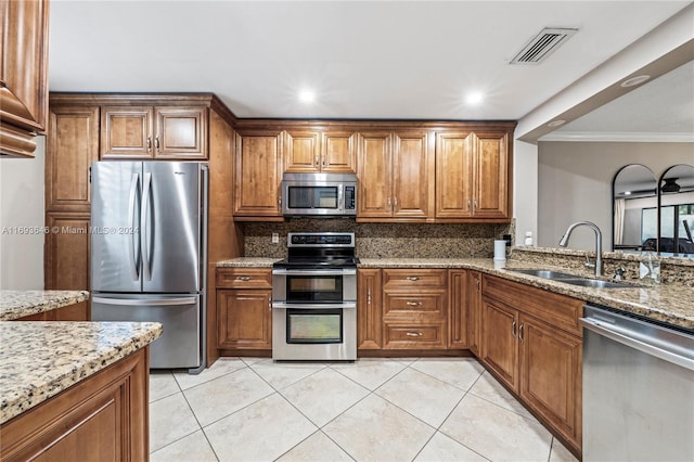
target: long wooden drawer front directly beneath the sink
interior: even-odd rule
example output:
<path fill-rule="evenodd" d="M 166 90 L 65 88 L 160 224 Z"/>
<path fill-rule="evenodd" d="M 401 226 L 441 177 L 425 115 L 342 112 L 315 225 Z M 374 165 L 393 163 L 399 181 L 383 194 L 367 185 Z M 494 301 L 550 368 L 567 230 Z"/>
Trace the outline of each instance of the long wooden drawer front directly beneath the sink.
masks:
<path fill-rule="evenodd" d="M 532 315 L 557 329 L 582 336 L 578 318 L 583 313 L 583 301 L 579 299 L 488 274 L 483 278 L 483 295 Z"/>

